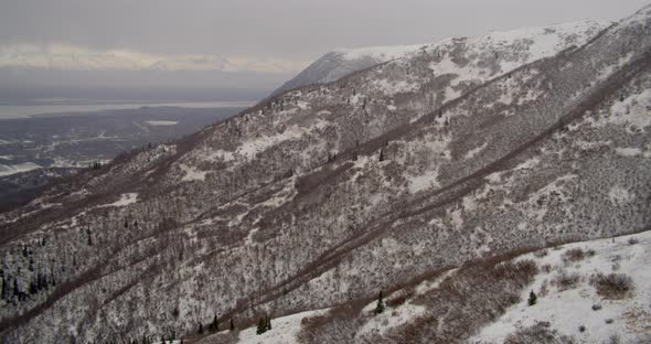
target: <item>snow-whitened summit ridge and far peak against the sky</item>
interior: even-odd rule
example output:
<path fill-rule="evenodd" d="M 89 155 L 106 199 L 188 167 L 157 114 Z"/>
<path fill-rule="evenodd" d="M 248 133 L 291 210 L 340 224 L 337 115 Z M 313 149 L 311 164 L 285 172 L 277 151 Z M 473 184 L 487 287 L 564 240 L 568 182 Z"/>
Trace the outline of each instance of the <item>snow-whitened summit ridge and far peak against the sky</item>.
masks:
<path fill-rule="evenodd" d="M 481 37 L 448 39 L 430 44 L 340 49 L 321 56 L 295 78 L 276 89 L 273 95 L 279 95 L 282 92 L 306 85 L 331 83 L 353 72 L 363 71 L 409 54 L 416 54 L 420 50 L 446 50 L 446 46 L 453 45 L 457 42 L 465 42 L 467 51 L 463 56 L 458 56 L 456 62 L 468 60 L 467 63 L 473 65 L 467 66 L 466 63 L 460 65 L 450 64 L 450 61 L 444 60 L 438 62 L 439 65 L 433 65 L 433 69 L 437 73 L 452 72 L 449 68 L 455 69 L 453 72 L 462 69 L 466 71 L 462 74 L 469 73 L 474 78 L 490 77 L 494 73 L 487 69 L 491 67 L 490 63 L 481 58 L 481 55 L 493 54 L 494 58 L 489 58 L 489 61 L 500 60 L 500 55 L 505 55 L 502 58 L 506 60 L 506 62 L 501 66 L 501 72 L 504 73 L 524 63 L 553 56 L 569 46 L 583 45 L 597 32 L 610 24 L 608 22 L 586 20 L 548 28 L 493 32 Z"/>

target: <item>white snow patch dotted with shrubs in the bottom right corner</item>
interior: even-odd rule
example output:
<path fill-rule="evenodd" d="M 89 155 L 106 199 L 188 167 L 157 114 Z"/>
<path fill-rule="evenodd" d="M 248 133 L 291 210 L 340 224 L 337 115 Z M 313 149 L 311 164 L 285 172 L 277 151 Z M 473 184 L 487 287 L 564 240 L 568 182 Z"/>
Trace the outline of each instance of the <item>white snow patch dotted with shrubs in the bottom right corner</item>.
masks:
<path fill-rule="evenodd" d="M 509 334 L 536 323 L 573 337 L 574 343 L 651 340 L 651 232 L 563 245 L 519 259 L 537 262 L 541 271 L 535 282 L 523 292 L 522 302 L 470 343 L 503 343 Z M 632 279 L 633 289 L 621 299 L 600 295 L 591 282 L 597 273 L 623 273 Z M 532 290 L 537 302 L 530 307 Z"/>

